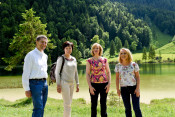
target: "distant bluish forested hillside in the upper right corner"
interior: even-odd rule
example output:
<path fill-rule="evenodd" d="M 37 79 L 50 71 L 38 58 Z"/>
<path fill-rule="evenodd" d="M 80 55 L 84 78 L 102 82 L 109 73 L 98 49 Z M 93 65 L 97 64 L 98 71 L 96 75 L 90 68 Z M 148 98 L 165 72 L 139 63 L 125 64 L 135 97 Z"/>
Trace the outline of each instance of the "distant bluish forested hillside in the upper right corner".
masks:
<path fill-rule="evenodd" d="M 111 0 L 124 3 L 135 17 L 154 23 L 162 32 L 175 34 L 175 0 Z"/>

